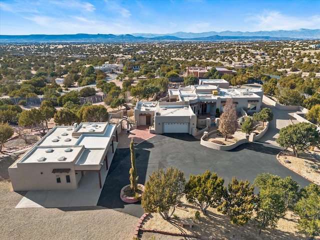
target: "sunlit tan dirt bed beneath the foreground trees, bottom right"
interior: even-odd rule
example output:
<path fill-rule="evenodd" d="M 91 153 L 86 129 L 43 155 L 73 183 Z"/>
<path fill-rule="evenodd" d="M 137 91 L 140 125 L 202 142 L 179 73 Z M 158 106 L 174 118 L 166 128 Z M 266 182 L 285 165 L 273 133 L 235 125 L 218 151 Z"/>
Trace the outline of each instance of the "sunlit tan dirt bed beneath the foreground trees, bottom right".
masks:
<path fill-rule="evenodd" d="M 213 239 L 305 239 L 305 235 L 299 233 L 296 229 L 298 216 L 288 211 L 284 218 L 278 221 L 275 229 L 267 228 L 262 230 L 258 235 L 258 229 L 253 226 L 251 222 L 244 226 L 237 226 L 230 223 L 230 219 L 227 215 L 223 215 L 215 208 L 209 207 L 204 215 L 200 212 L 199 219 L 195 219 L 195 212 L 200 211 L 199 208 L 188 203 L 185 198 L 182 200 L 180 207 L 176 207 L 176 217 L 169 221 L 163 220 L 158 213 L 151 213 L 147 216 L 147 221 L 143 224 L 142 229 L 156 229 L 161 231 L 173 232 L 173 233 L 185 233 L 193 235 L 201 235 L 201 239 L 207 239 L 204 237 L 213 237 Z M 194 226 L 192 228 L 180 227 L 181 219 L 192 219 Z M 169 236 L 163 234 L 155 234 L 145 232 L 142 234 L 141 239 L 150 239 L 151 236 L 156 236 L 156 239 L 196 239 L 196 238 L 182 238 L 176 236 Z M 320 239 L 316 236 L 314 239 Z"/>

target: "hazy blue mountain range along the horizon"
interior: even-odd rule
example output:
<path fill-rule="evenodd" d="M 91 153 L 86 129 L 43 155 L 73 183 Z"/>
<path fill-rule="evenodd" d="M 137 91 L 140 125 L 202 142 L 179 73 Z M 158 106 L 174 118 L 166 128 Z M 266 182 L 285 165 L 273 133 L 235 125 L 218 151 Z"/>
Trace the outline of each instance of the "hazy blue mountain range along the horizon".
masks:
<path fill-rule="evenodd" d="M 298 29 L 278 31 L 222 31 L 222 32 L 175 32 L 171 34 L 133 33 L 133 34 L 63 34 L 63 35 L 0 35 L 0 43 L 115 43 L 115 42 L 154 42 L 154 41 L 257 41 L 320 39 L 320 29 Z"/>

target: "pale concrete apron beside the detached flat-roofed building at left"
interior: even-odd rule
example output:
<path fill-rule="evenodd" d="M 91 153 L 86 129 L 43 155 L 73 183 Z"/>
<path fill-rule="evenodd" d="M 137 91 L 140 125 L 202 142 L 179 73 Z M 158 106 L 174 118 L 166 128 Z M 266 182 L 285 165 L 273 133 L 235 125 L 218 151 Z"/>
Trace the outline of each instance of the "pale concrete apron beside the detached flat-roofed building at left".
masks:
<path fill-rule="evenodd" d="M 115 148 L 117 142 L 114 142 Z M 105 164 L 101 167 L 101 184 L 103 186 L 106 175 L 110 169 L 114 153 L 108 152 L 108 170 Z M 69 206 L 95 206 L 98 202 L 102 188 L 99 187 L 98 174 L 94 171 L 85 172 L 79 181 L 79 187 L 74 190 L 46 190 L 27 191 L 16 208 L 24 207 L 69 207 Z"/>

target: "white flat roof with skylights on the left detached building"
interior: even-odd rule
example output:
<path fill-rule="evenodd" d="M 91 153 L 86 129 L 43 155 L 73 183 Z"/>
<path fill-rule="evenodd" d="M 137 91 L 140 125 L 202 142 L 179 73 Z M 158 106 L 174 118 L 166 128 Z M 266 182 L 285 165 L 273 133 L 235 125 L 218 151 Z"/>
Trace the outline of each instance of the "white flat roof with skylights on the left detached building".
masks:
<path fill-rule="evenodd" d="M 89 131 L 91 128 L 95 131 Z M 116 124 L 108 122 L 83 122 L 75 128 L 79 135 L 72 137 L 74 127 L 55 126 L 22 155 L 17 163 L 75 162 L 79 169 L 86 169 L 81 166 L 99 169 L 115 129 Z"/>

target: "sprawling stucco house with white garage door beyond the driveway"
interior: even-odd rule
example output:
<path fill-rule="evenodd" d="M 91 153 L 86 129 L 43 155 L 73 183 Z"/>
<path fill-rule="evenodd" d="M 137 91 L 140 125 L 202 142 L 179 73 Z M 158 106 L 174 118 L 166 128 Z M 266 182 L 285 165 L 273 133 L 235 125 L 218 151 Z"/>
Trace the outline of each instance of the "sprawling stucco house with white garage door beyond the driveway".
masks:
<path fill-rule="evenodd" d="M 208 80 L 208 79 L 206 79 Z M 214 81 L 216 79 L 209 79 Z M 219 79 L 221 80 L 221 79 Z M 134 109 L 136 125 L 149 125 L 150 132 L 189 133 L 196 128 L 197 116 L 214 118 L 216 108 L 223 111 L 226 99 L 232 99 L 236 110 L 248 113 L 261 108 L 261 88 L 220 88 L 217 85 L 191 85 L 169 89 L 169 102 L 137 102 Z"/>

